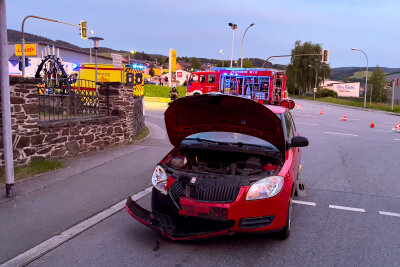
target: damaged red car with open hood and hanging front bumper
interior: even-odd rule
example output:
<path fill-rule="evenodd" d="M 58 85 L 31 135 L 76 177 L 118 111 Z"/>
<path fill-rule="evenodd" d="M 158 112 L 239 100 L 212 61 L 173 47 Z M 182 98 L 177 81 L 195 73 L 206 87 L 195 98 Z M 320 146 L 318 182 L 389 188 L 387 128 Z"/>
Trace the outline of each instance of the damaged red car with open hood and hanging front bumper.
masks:
<path fill-rule="evenodd" d="M 152 211 L 128 198 L 139 222 L 173 240 L 234 232 L 290 234 L 301 149 L 288 109 L 230 95 L 175 100 L 165 111 L 174 148 L 153 177 Z"/>

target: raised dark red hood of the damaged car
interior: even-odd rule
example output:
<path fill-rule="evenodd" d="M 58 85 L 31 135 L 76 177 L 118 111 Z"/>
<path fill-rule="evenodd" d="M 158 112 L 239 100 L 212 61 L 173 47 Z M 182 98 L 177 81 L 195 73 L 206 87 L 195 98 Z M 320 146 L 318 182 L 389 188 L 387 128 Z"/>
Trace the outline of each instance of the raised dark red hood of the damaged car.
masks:
<path fill-rule="evenodd" d="M 263 139 L 285 150 L 282 122 L 263 104 L 231 95 L 195 95 L 171 103 L 165 125 L 173 146 L 200 132 L 234 132 Z"/>

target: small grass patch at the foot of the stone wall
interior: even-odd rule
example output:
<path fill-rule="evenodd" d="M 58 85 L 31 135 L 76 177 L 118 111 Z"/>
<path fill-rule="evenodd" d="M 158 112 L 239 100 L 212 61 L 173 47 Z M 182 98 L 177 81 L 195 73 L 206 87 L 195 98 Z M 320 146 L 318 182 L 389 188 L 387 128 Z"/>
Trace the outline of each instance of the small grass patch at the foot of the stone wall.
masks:
<path fill-rule="evenodd" d="M 61 161 L 55 159 L 43 159 L 32 161 L 27 166 L 14 167 L 14 179 L 15 181 L 28 178 L 37 174 L 54 171 L 63 168 L 64 165 Z M 0 183 L 5 183 L 4 170 L 0 176 Z"/>

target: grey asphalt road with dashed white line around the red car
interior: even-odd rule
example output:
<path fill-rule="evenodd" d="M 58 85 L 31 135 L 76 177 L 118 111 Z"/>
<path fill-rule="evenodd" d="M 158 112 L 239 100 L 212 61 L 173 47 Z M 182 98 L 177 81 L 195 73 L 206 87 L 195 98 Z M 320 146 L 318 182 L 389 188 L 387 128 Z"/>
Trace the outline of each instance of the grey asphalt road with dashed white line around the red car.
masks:
<path fill-rule="evenodd" d="M 302 109 L 292 114 L 299 132 L 310 141 L 302 158 L 308 196 L 296 198 L 288 240 L 263 234 L 172 242 L 123 209 L 29 266 L 400 266 L 400 134 L 391 132 L 400 117 L 298 103 Z M 143 158 L 141 167 L 132 168 L 138 180 L 121 183 L 126 186 L 123 192 L 103 198 L 115 203 L 127 189 L 133 194 L 149 184 L 151 168 L 170 149 L 162 131 L 164 108 L 146 103 L 146 121 L 154 135 L 140 144 L 151 155 Z M 344 113 L 347 121 L 342 121 Z M 136 159 L 140 153 L 131 155 Z M 121 177 L 127 162 L 115 163 L 120 179 L 128 179 Z M 110 199 L 104 201 L 105 209 Z M 139 203 L 148 206 L 149 195 Z M 59 231 L 66 229 L 63 226 Z"/>

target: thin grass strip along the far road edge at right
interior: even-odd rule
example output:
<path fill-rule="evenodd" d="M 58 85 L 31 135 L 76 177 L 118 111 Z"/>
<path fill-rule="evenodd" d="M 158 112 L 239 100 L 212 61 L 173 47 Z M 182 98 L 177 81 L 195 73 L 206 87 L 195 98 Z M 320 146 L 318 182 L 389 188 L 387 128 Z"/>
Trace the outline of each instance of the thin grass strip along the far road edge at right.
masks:
<path fill-rule="evenodd" d="M 295 96 L 296 98 L 303 98 L 313 100 L 313 97 L 299 97 Z M 354 100 L 354 99 L 345 99 L 345 98 L 333 98 L 333 97 L 323 97 L 323 98 L 316 98 L 316 101 L 345 105 L 345 106 L 352 106 L 352 107 L 364 107 L 364 101 Z M 367 107 L 369 108 L 369 102 L 367 101 Z M 371 109 L 383 110 L 383 111 L 392 111 L 392 105 L 386 103 L 379 103 L 379 102 L 372 102 Z M 400 105 L 393 106 L 393 112 L 400 113 Z"/>

